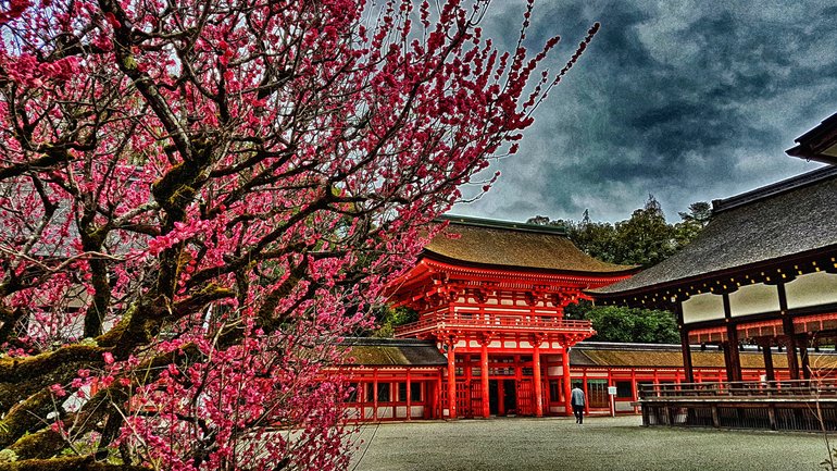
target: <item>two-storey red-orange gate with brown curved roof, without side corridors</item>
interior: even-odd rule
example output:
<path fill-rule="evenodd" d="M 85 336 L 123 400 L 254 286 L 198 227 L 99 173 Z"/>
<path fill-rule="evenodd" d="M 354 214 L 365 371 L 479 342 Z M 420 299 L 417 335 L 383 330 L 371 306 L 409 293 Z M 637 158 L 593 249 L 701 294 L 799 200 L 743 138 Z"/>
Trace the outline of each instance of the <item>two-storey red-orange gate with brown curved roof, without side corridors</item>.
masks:
<path fill-rule="evenodd" d="M 560 227 L 442 222 L 391 299 L 418 312 L 396 336 L 434 340 L 447 357 L 444 416 L 570 414 L 569 349 L 596 332 L 564 308 L 636 268 L 585 255 Z"/>

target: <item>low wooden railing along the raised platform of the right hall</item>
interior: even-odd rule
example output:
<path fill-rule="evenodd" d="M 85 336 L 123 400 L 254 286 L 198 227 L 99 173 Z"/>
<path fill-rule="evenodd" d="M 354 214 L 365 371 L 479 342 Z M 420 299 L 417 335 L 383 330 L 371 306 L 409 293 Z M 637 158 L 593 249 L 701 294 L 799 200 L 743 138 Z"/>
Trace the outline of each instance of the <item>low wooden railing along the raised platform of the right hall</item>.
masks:
<path fill-rule="evenodd" d="M 644 400 L 726 397 L 757 400 L 776 397 L 837 398 L 837 379 L 642 384 L 639 387 L 639 396 Z"/>

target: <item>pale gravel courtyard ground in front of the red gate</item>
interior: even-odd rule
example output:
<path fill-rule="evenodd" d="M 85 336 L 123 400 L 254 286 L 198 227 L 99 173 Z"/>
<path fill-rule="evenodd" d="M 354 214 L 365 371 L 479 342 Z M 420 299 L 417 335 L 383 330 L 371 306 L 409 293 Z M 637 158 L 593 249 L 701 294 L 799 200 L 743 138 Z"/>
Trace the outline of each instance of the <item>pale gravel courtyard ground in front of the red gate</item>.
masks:
<path fill-rule="evenodd" d="M 364 425 L 351 471 L 822 470 L 821 435 L 642 427 L 639 417 Z M 833 444 L 837 444 L 837 437 Z M 362 442 L 361 442 L 362 441 Z"/>

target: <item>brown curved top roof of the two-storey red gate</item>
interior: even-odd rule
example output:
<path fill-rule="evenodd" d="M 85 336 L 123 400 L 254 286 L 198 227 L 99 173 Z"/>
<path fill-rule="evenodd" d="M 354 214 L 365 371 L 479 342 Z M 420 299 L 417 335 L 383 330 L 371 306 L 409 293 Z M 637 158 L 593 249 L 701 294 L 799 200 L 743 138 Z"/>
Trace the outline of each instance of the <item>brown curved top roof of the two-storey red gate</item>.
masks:
<path fill-rule="evenodd" d="M 583 273 L 629 273 L 634 267 L 596 260 L 563 230 L 447 216 L 449 226 L 425 247 L 425 256 L 478 265 Z"/>

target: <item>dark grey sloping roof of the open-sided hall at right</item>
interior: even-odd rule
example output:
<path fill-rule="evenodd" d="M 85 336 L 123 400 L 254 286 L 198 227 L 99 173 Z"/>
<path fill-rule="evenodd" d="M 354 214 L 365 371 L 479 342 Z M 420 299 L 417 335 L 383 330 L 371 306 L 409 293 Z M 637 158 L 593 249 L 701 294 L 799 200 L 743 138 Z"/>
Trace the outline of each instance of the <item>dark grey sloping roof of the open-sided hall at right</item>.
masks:
<path fill-rule="evenodd" d="M 715 202 L 713 219 L 682 251 L 591 293 L 648 292 L 812 250 L 837 249 L 837 168 L 826 166 Z"/>

